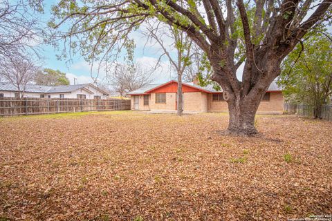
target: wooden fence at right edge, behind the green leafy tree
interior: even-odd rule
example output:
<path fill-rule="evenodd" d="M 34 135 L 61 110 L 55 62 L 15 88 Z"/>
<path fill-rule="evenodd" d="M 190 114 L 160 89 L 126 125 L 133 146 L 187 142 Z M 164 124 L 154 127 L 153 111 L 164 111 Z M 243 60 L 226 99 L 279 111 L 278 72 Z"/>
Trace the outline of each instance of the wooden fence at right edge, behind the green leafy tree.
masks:
<path fill-rule="evenodd" d="M 332 121 L 332 105 L 323 105 L 320 118 Z M 304 117 L 314 116 L 314 107 L 306 104 L 285 104 L 284 110 L 289 114 L 297 114 Z"/>

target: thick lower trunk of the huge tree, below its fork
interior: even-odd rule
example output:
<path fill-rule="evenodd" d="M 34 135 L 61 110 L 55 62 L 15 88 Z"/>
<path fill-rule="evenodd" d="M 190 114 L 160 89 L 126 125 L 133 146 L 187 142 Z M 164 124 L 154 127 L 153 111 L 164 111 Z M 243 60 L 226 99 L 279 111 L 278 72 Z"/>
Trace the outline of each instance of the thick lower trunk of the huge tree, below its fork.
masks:
<path fill-rule="evenodd" d="M 258 95 L 257 95 L 258 97 Z M 254 104 L 246 102 L 244 99 L 232 99 L 228 101 L 228 111 L 230 120 L 226 135 L 255 135 L 255 115 L 259 106 L 260 99 L 257 98 Z"/>

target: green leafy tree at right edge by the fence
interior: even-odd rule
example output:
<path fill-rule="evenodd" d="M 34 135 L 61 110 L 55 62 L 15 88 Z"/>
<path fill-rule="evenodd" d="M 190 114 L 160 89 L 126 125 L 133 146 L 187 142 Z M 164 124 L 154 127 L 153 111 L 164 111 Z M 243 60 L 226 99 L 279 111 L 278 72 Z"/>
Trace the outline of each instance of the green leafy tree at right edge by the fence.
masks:
<path fill-rule="evenodd" d="M 288 55 L 282 69 L 279 84 L 288 102 L 312 105 L 317 113 L 332 95 L 332 38 L 309 36 Z"/>

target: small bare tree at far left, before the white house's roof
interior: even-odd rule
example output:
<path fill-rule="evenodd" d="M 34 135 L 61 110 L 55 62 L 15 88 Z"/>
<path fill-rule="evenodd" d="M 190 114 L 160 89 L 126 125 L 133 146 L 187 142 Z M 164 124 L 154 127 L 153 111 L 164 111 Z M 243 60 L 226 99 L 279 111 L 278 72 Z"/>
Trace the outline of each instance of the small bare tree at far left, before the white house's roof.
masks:
<path fill-rule="evenodd" d="M 21 57 L 10 58 L 9 61 L 1 64 L 0 75 L 17 88 L 19 97 L 23 98 L 26 85 L 33 81 L 39 67 L 31 59 L 22 60 Z"/>

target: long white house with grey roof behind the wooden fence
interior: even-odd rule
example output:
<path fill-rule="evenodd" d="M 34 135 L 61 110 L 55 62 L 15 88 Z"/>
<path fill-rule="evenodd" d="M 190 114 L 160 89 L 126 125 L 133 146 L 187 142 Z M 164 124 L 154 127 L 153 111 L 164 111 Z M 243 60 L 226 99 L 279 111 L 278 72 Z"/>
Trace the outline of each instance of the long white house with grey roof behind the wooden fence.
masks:
<path fill-rule="evenodd" d="M 108 96 L 108 93 L 93 84 L 60 86 L 28 84 L 24 90 L 24 97 L 105 99 Z M 0 97 L 19 97 L 17 86 L 10 83 L 0 83 Z"/>

